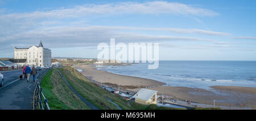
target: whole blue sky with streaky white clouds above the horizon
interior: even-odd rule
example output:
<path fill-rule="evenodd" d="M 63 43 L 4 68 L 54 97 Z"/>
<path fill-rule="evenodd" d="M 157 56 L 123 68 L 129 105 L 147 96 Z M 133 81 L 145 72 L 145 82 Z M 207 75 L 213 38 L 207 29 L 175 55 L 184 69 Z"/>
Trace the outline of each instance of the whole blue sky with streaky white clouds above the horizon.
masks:
<path fill-rule="evenodd" d="M 101 42 L 158 42 L 160 60 L 256 60 L 256 1 L 0 0 L 0 58 L 39 45 L 97 58 Z"/>

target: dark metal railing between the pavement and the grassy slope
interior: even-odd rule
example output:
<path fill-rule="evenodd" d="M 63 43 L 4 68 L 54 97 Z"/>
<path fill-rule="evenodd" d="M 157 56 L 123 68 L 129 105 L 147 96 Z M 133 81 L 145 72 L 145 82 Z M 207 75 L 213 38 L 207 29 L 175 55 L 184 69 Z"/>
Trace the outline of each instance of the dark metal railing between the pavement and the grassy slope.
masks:
<path fill-rule="evenodd" d="M 37 77 L 36 81 L 36 88 L 34 90 L 34 102 L 33 102 L 33 110 L 35 110 L 35 107 L 38 104 L 38 108 L 40 110 L 50 110 L 49 105 L 48 105 L 48 100 L 43 94 L 43 89 L 40 87 L 41 80 L 46 75 L 48 72 L 48 69 L 42 73 L 40 73 Z"/>

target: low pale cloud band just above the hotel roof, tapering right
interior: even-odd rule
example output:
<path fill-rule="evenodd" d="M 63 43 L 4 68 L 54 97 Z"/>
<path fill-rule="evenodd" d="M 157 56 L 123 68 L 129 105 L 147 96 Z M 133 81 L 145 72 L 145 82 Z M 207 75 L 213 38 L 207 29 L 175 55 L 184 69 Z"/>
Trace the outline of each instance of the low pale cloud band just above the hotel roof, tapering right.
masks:
<path fill-rule="evenodd" d="M 116 37 L 122 42 L 147 42 L 147 41 L 212 41 L 197 37 L 164 36 L 141 34 L 133 32 L 121 32 L 115 27 L 52 27 L 43 28 L 39 31 L 27 31 L 14 34 L 13 36 L 0 37 L 1 42 L 32 42 L 35 40 L 44 40 L 51 43 L 53 47 L 60 47 L 65 44 L 70 46 L 82 43 L 98 44 L 99 42 L 109 41 L 110 37 Z M 16 43 L 17 44 L 17 43 Z"/>

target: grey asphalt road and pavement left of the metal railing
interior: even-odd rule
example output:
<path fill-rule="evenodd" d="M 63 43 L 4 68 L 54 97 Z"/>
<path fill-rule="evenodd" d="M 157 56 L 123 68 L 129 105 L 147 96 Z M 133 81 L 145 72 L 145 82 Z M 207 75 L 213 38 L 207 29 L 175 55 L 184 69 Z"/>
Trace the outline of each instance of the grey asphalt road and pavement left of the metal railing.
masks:
<path fill-rule="evenodd" d="M 38 71 L 38 75 L 46 70 Z M 31 110 L 36 82 L 19 80 L 22 70 L 1 71 L 5 85 L 0 87 L 0 109 Z M 36 75 L 36 76 L 38 76 Z"/>

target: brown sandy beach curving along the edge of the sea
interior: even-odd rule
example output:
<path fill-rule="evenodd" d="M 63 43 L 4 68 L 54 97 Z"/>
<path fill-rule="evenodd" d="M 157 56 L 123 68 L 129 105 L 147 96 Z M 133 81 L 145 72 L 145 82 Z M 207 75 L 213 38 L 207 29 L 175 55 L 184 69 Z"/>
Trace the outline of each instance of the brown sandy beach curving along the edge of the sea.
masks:
<path fill-rule="evenodd" d="M 250 106 L 256 107 L 256 88 L 249 87 L 230 87 L 213 86 L 211 90 L 187 87 L 167 87 L 165 83 L 143 79 L 141 77 L 123 76 L 112 74 L 110 72 L 97 70 L 92 65 L 76 66 L 82 70 L 81 74 L 98 83 L 120 85 L 122 89 L 137 92 L 141 88 L 150 88 L 158 90 L 158 94 L 172 96 L 179 100 L 188 100 L 192 102 L 213 104 L 216 100 L 217 105 L 225 106 Z"/>

